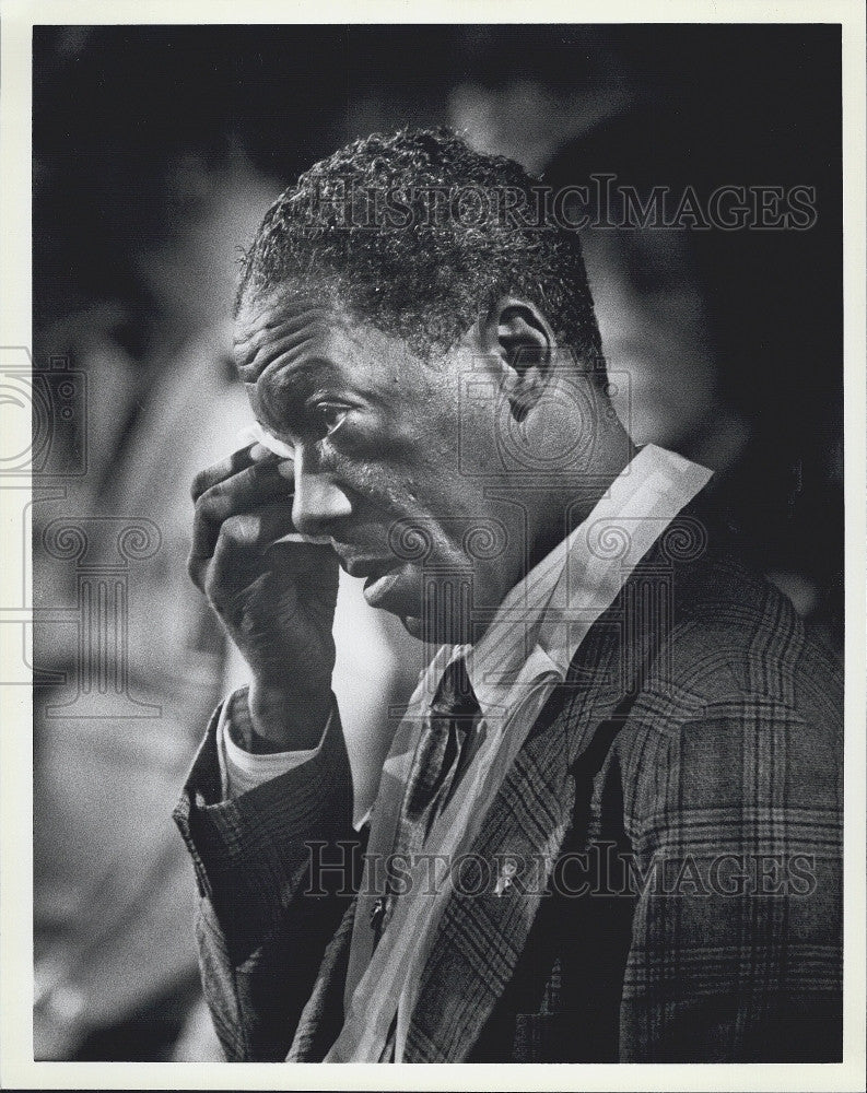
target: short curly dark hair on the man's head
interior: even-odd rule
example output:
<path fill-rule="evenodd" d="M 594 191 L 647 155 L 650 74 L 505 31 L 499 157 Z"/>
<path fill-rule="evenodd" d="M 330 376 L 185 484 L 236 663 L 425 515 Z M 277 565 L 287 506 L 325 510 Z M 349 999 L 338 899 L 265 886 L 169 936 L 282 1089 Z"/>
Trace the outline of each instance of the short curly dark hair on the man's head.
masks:
<path fill-rule="evenodd" d="M 397 333 L 425 359 L 446 352 L 504 294 L 535 303 L 559 345 L 605 373 L 577 233 L 516 224 L 491 197 L 540 184 L 450 129 L 353 141 L 274 201 L 242 260 L 236 310 L 262 291 L 316 292 Z M 492 209 L 494 211 L 492 211 Z"/>

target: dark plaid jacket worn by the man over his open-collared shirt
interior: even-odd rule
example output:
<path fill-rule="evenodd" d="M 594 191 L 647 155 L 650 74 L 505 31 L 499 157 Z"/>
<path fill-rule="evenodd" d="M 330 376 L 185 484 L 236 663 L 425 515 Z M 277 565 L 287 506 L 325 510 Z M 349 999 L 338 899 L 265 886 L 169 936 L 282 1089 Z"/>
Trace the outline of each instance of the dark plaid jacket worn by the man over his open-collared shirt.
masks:
<path fill-rule="evenodd" d="M 841 672 L 694 512 L 593 626 L 503 784 L 407 1061 L 841 1058 Z M 221 802 L 215 720 L 175 811 L 214 1024 L 232 1060 L 321 1059 L 364 846 L 345 749 L 335 733 Z M 313 886 L 311 839 L 345 867 Z"/>

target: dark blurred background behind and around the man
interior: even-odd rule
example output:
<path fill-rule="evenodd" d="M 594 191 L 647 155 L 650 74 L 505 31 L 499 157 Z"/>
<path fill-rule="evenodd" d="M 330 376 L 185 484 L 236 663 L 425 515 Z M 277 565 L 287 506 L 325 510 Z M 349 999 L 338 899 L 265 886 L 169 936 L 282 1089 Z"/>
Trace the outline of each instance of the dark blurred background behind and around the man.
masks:
<path fill-rule="evenodd" d="M 63 356 L 89 380 L 86 421 L 55 453 L 66 494 L 35 509 L 37 600 L 74 602 L 70 564 L 40 546 L 58 516 L 150 514 L 163 533 L 130 572 L 130 677 L 159 729 L 37 713 L 37 1056 L 208 1057 L 178 909 L 191 875 L 165 815 L 232 677 L 183 559 L 188 478 L 243 418 L 226 362 L 237 248 L 301 171 L 403 124 L 464 129 L 553 186 L 613 172 L 645 192 L 816 187 L 809 231 L 588 231 L 585 249 L 636 439 L 718 472 L 755 563 L 839 651 L 840 32 L 67 26 L 35 28 L 33 48 L 35 363 Z M 85 434 L 86 473 L 65 478 Z M 382 625 L 399 697 L 418 657 Z M 72 686 L 74 635 L 37 626 L 35 657 L 44 713 Z M 164 789 L 134 806 L 145 784 Z M 142 833 L 136 807 L 160 822 Z"/>

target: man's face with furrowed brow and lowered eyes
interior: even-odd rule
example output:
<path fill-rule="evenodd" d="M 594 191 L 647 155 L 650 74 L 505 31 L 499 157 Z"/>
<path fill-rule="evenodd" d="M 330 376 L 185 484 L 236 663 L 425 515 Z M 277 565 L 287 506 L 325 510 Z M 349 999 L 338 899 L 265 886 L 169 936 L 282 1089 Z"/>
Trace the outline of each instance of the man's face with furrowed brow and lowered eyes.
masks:
<path fill-rule="evenodd" d="M 257 419 L 294 448 L 296 528 L 328 536 L 415 636 L 473 640 L 526 539 L 520 506 L 485 496 L 496 392 L 465 397 L 485 367 L 473 336 L 427 363 L 319 298 L 271 293 L 242 308 L 235 354 Z"/>

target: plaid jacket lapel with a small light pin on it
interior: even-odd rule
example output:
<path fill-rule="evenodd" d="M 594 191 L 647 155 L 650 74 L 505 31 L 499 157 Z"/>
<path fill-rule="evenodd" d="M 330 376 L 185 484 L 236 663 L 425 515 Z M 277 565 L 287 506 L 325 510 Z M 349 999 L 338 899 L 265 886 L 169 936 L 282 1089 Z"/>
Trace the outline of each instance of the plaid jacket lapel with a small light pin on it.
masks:
<path fill-rule="evenodd" d="M 571 768 L 623 694 L 619 646 L 597 623 L 503 783 L 437 927 L 405 1061 L 465 1059 L 512 978 L 572 824 Z"/>

